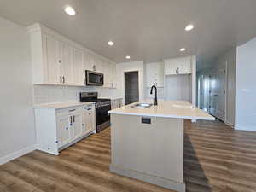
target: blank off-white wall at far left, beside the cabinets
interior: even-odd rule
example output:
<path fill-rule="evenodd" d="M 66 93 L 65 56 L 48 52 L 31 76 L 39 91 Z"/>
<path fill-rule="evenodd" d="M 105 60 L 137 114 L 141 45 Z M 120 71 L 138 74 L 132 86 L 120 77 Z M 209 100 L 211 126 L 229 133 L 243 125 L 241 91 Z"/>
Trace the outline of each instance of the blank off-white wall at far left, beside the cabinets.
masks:
<path fill-rule="evenodd" d="M 0 164 L 33 149 L 32 67 L 24 27 L 0 18 Z"/>

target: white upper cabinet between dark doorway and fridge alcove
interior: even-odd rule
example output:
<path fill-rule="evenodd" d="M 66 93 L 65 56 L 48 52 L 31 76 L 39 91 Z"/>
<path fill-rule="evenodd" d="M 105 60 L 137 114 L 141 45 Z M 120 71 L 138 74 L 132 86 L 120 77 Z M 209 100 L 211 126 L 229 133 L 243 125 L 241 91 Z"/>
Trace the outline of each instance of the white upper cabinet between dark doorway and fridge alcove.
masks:
<path fill-rule="evenodd" d="M 155 85 L 164 87 L 165 72 L 164 63 L 148 63 L 146 64 L 147 87 Z"/>

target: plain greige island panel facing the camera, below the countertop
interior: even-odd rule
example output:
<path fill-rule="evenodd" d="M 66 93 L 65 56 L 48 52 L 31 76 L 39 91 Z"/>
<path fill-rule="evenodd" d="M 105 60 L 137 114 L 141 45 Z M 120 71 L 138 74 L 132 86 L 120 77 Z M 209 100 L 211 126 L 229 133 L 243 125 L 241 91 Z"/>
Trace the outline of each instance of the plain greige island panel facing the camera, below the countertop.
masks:
<path fill-rule="evenodd" d="M 183 119 L 111 114 L 111 154 L 112 167 L 183 184 Z"/>

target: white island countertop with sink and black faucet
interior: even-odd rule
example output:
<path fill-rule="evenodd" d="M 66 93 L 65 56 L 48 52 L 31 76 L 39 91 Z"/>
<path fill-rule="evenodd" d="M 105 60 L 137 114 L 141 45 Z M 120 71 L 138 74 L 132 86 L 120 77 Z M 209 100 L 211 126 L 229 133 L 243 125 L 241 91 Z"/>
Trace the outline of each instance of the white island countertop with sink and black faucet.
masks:
<path fill-rule="evenodd" d="M 177 118 L 177 119 L 204 119 L 214 120 L 212 115 L 202 111 L 199 108 L 195 108 L 191 103 L 185 101 L 158 101 L 158 106 L 151 106 L 150 108 L 131 108 L 136 103 L 153 103 L 154 100 L 146 100 L 131 103 L 122 108 L 116 108 L 109 111 L 110 114 L 126 114 L 126 115 L 138 115 L 149 117 L 163 117 L 163 118 Z"/>

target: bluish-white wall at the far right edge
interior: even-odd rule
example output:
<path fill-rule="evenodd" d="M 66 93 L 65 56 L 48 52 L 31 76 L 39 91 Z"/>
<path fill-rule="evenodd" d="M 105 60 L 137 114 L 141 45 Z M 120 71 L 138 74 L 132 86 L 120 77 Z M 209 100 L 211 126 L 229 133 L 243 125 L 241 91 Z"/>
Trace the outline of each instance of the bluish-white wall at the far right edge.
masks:
<path fill-rule="evenodd" d="M 256 131 L 256 38 L 236 51 L 235 128 Z"/>

